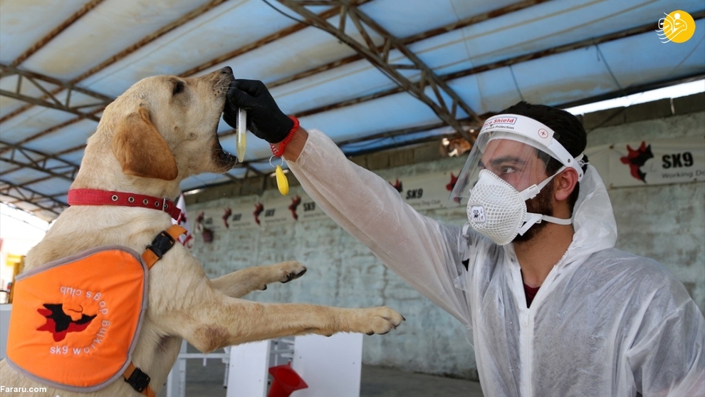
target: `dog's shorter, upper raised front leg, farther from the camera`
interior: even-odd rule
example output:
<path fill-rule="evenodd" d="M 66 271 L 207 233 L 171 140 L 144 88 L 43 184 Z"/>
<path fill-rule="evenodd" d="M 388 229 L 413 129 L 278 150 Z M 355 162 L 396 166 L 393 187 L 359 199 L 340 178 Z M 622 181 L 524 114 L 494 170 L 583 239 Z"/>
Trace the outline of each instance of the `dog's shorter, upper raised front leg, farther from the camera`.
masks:
<path fill-rule="evenodd" d="M 229 297 L 244 297 L 256 289 L 267 289 L 273 282 L 290 282 L 306 272 L 306 267 L 296 261 L 268 266 L 247 267 L 211 280 L 211 287 Z"/>

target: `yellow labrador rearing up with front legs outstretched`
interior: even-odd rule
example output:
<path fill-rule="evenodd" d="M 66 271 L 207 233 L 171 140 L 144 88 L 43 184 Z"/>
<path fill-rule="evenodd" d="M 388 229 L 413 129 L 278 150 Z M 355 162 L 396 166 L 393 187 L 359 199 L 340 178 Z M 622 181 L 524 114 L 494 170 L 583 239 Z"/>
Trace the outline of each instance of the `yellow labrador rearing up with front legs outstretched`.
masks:
<path fill-rule="evenodd" d="M 167 207 L 168 200 L 161 197 L 177 197 L 179 182 L 189 175 L 226 172 L 234 167 L 236 159 L 221 148 L 216 135 L 233 79 L 229 67 L 199 78 L 145 78 L 108 105 L 97 132 L 88 139 L 71 189 L 124 192 L 137 195 L 138 201 L 142 196 L 160 197 L 159 205 L 72 205 L 28 253 L 23 272 L 31 273 L 43 264 L 108 244 L 145 252 L 155 236 L 172 225 L 172 217 L 162 210 L 162 202 Z M 305 270 L 298 262 L 283 262 L 208 279 L 198 260 L 180 244 L 174 244 L 149 270 L 148 306 L 132 352 L 134 366 L 151 378 L 150 393 L 160 392 L 182 338 L 207 352 L 281 336 L 385 334 L 403 321 L 387 307 L 343 309 L 239 299 L 254 289 L 264 289 L 268 283 L 300 277 Z M 67 285 L 70 282 L 66 280 Z M 80 316 L 75 319 L 80 322 Z M 0 362 L 0 379 L 5 387 L 3 396 L 33 395 L 28 392 L 31 388 L 47 386 L 16 371 L 6 361 Z M 140 393 L 120 377 L 89 393 L 48 387 L 48 391 L 34 395 Z"/>

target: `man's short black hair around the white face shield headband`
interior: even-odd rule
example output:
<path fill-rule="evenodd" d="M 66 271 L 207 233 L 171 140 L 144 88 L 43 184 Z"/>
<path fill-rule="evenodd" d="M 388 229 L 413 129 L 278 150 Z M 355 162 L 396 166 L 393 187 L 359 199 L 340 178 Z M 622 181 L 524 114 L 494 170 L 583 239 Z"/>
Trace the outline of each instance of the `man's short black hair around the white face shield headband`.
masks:
<path fill-rule="evenodd" d="M 563 145 L 565 150 L 575 158 L 575 156 L 580 155 L 585 150 L 588 145 L 588 134 L 585 133 L 585 128 L 583 128 L 583 123 L 580 123 L 575 115 L 572 115 L 565 110 L 553 108 L 547 105 L 533 105 L 527 103 L 526 101 L 521 101 L 516 105 L 512 105 L 501 113 L 508 113 L 514 115 L 523 115 L 528 118 L 533 118 L 534 120 L 545 124 L 548 128 L 553 130 L 555 133 L 553 138 L 558 140 L 560 145 Z M 539 155 L 539 158 L 546 163 L 546 174 L 553 175 L 558 168 L 562 167 L 563 164 L 560 161 L 555 160 L 550 156 Z M 584 157 L 583 161 L 588 162 L 588 158 Z M 585 170 L 586 166 L 583 166 Z M 580 184 L 575 185 L 575 189 L 570 193 L 568 197 L 568 207 L 570 207 L 570 213 L 573 213 L 573 207 L 575 207 L 575 202 L 578 201 L 578 195 L 580 194 Z"/>

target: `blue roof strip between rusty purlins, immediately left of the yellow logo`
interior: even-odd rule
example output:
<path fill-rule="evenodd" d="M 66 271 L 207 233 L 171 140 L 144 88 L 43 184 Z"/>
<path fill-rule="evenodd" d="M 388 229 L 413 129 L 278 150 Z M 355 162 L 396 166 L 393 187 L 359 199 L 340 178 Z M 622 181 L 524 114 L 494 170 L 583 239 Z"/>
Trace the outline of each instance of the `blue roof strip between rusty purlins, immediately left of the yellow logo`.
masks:
<path fill-rule="evenodd" d="M 641 3 L 550 1 L 419 41 L 409 48 L 437 73 L 452 73 L 632 26 L 655 26 L 662 16 L 663 2 Z M 696 1 L 685 3 L 694 8 Z"/>

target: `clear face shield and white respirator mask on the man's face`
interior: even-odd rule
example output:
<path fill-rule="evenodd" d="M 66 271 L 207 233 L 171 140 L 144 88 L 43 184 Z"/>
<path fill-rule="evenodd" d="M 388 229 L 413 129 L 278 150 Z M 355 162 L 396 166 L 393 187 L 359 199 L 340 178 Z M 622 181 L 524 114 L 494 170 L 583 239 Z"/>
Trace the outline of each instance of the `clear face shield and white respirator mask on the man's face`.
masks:
<path fill-rule="evenodd" d="M 578 180 L 583 177 L 580 162 L 553 135 L 543 123 L 521 115 L 498 115 L 485 122 L 449 198 L 455 205 L 468 200 L 466 227 L 504 245 L 538 222 L 570 225 L 570 219 L 526 210 L 526 200 L 566 167 L 578 172 Z M 549 158 L 563 167 L 546 177 Z"/>

